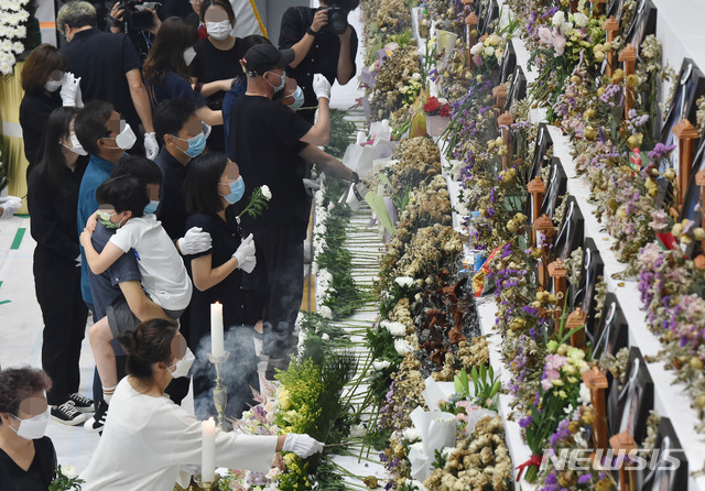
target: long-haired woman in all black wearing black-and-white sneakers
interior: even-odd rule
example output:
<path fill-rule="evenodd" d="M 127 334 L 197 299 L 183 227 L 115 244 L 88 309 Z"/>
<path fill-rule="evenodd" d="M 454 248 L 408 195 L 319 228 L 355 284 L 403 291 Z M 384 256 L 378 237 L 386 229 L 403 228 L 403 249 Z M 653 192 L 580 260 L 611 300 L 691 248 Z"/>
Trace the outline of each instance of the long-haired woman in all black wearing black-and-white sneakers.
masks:
<path fill-rule="evenodd" d="M 28 204 L 34 249 L 34 288 L 44 318 L 42 367 L 54 381 L 46 394 L 52 418 L 78 425 L 93 401 L 78 393 L 80 345 L 88 309 L 80 296 L 76 223 L 86 152 L 74 131 L 75 108 L 55 109 L 46 123 L 44 152 L 30 172 Z"/>

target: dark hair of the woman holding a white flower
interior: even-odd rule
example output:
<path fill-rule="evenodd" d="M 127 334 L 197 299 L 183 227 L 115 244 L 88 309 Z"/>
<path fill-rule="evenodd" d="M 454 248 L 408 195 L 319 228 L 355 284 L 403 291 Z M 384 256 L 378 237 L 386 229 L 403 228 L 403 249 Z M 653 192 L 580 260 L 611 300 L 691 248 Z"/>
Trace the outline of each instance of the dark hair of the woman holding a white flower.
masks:
<path fill-rule="evenodd" d="M 210 152 L 194 159 L 188 164 L 184 179 L 184 195 L 188 214 L 215 215 L 223 209 L 218 183 L 228 165 L 228 156 Z"/>

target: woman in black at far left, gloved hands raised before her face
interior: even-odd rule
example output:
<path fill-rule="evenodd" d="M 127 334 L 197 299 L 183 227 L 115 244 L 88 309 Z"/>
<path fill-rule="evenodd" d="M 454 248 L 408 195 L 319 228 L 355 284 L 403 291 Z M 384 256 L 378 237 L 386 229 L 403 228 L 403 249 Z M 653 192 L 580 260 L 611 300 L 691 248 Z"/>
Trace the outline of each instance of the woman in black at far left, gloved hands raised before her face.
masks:
<path fill-rule="evenodd" d="M 24 97 L 20 102 L 20 126 L 24 156 L 30 163 L 28 174 L 42 155 L 48 114 L 62 106 L 59 89 L 66 68 L 68 58 L 51 44 L 37 46 L 22 67 Z"/>

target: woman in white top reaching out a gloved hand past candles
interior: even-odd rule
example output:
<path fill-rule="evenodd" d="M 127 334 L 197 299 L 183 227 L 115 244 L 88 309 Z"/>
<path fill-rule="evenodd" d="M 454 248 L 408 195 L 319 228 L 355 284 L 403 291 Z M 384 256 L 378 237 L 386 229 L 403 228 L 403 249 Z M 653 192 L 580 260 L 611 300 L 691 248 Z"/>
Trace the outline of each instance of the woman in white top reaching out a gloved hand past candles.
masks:
<path fill-rule="evenodd" d="M 152 319 L 124 332 L 128 377 L 118 384 L 102 437 L 82 473 L 84 491 L 171 491 L 186 485 L 182 466 L 200 463 L 202 423 L 164 389 L 188 373 L 193 356 L 176 323 Z M 215 434 L 215 466 L 267 472 L 275 451 L 308 457 L 323 445 L 307 435 Z"/>

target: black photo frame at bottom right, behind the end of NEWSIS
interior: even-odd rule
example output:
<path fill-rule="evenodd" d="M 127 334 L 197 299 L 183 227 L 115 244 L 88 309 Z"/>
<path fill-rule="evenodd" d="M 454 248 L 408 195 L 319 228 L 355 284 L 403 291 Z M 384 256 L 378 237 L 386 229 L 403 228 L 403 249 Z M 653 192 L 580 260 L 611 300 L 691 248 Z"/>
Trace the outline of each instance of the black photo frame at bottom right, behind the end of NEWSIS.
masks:
<path fill-rule="evenodd" d="M 658 454 L 655 454 L 658 451 Z M 671 419 L 659 421 L 659 433 L 649 465 L 637 472 L 637 489 L 642 491 L 680 491 L 687 489 L 688 465 Z M 677 465 L 676 465 L 677 462 Z"/>

